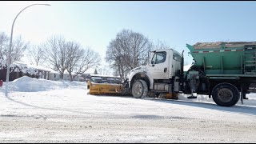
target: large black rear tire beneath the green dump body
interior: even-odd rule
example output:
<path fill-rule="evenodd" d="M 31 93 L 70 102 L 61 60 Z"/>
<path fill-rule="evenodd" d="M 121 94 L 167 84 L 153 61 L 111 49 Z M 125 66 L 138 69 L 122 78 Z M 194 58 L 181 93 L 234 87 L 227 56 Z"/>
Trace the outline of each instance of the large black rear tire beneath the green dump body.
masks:
<path fill-rule="evenodd" d="M 214 87 L 212 96 L 218 106 L 234 106 L 238 103 L 240 93 L 232 84 L 223 82 Z"/>

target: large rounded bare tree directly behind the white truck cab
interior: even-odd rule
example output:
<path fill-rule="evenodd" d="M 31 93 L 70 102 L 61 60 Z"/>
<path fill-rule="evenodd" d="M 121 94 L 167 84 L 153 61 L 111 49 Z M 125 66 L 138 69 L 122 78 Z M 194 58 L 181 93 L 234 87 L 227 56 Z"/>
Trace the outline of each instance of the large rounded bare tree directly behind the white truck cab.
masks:
<path fill-rule="evenodd" d="M 107 47 L 106 62 L 125 78 L 131 69 L 146 64 L 151 49 L 152 43 L 143 34 L 122 30 Z"/>

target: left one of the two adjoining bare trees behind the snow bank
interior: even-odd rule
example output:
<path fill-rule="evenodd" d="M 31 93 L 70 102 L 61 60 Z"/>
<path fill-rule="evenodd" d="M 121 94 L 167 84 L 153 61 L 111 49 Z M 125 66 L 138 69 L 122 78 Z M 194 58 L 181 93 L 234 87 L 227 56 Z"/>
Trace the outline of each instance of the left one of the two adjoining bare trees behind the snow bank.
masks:
<path fill-rule="evenodd" d="M 54 36 L 49 38 L 44 44 L 47 62 L 49 62 L 53 70 L 60 73 L 62 80 L 64 78 L 64 72 L 67 68 L 66 47 L 66 39 L 62 36 Z"/>

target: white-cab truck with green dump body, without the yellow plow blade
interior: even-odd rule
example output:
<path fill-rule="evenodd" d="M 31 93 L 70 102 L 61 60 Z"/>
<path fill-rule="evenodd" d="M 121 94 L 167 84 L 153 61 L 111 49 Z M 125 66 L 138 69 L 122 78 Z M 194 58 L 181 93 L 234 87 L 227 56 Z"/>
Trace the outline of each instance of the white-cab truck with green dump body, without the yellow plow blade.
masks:
<path fill-rule="evenodd" d="M 150 51 L 146 66 L 130 70 L 126 90 L 134 98 L 204 94 L 219 106 L 234 106 L 255 92 L 256 42 L 198 42 L 186 47 L 194 58 L 189 70 L 183 71 L 184 51 Z"/>

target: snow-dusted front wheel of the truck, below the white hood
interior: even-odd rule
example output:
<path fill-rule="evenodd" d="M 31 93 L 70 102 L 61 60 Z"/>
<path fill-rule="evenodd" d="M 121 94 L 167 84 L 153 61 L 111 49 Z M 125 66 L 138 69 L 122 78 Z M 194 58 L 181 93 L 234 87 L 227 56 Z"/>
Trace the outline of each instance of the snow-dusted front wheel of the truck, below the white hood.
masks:
<path fill-rule="evenodd" d="M 138 79 L 132 86 L 132 94 L 134 98 L 144 98 L 148 92 L 146 82 L 142 79 Z"/>

